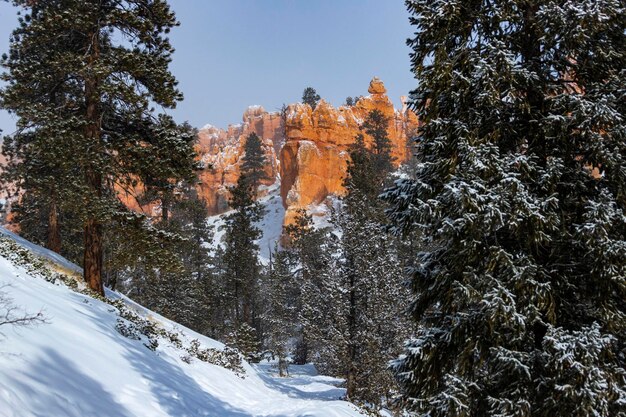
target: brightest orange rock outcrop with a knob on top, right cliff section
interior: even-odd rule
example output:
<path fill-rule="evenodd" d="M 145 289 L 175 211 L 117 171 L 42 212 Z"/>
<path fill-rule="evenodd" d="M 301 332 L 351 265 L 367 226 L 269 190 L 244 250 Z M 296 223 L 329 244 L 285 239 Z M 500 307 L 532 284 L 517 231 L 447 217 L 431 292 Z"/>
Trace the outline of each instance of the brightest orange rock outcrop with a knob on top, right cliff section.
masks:
<path fill-rule="evenodd" d="M 348 162 L 348 148 L 363 133 L 360 127 L 372 110 L 389 120 L 388 133 L 395 164 L 410 156 L 407 138 L 417 128 L 417 118 L 407 110 L 394 109 L 387 90 L 378 78 L 369 85 L 369 96 L 354 106 L 334 108 L 320 101 L 315 110 L 305 104 L 288 107 L 285 121 L 286 141 L 280 152 L 281 196 L 289 223 L 295 211 L 320 204 L 329 195 L 341 195 Z M 365 136 L 366 144 L 372 138 Z"/>

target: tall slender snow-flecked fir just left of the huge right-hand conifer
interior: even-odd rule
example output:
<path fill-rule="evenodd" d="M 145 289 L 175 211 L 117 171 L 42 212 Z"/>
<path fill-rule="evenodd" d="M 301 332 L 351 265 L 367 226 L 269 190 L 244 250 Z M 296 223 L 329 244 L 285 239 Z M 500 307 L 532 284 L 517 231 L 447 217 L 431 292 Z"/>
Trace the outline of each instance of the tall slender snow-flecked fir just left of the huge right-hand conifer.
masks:
<path fill-rule="evenodd" d="M 334 366 L 346 379 L 348 398 L 371 406 L 393 394 L 387 362 L 398 354 L 398 343 L 409 328 L 401 260 L 395 239 L 381 223 L 377 199 L 392 168 L 390 148 L 379 150 L 375 145 L 368 149 L 360 135 L 350 149 L 347 194 L 334 219 L 341 238 L 330 284 L 336 297 L 332 315 L 341 320 L 328 340 L 336 353 Z"/>

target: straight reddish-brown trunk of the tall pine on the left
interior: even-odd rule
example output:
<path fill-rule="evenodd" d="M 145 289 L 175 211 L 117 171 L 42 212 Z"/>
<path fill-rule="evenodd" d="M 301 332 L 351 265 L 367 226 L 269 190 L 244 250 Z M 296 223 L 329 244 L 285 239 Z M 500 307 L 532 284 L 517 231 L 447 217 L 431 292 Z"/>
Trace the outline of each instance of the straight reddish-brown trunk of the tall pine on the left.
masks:
<path fill-rule="evenodd" d="M 89 39 L 91 40 L 89 45 L 89 50 L 91 51 L 89 64 L 92 66 L 98 61 L 100 53 L 100 39 L 97 29 Z M 98 104 L 98 76 L 90 72 L 85 79 L 85 116 L 87 120 L 85 138 L 89 143 L 89 148 L 95 149 L 96 151 L 95 155 L 90 155 L 91 158 L 87 162 L 89 165 L 86 167 L 85 180 L 90 189 L 90 197 L 94 198 L 99 205 L 100 197 L 102 197 L 102 175 L 98 172 L 97 167 L 94 166 L 95 161 L 93 161 L 94 156 L 95 158 L 98 157 L 97 152 L 100 148 L 101 114 Z M 97 209 L 99 209 L 99 207 Z M 92 212 L 85 222 L 83 275 L 89 288 L 104 295 L 104 287 L 102 285 L 102 258 L 104 255 L 102 240 L 102 224 L 98 219 L 98 214 Z"/>

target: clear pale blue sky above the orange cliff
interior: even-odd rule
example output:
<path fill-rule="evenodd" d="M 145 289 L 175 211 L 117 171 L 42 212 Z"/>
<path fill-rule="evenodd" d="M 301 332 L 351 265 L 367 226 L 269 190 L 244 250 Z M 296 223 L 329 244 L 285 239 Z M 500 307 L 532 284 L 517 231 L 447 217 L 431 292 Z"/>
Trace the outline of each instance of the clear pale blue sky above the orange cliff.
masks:
<path fill-rule="evenodd" d="M 172 111 L 201 127 L 238 123 L 243 110 L 266 110 L 300 100 L 307 86 L 333 105 L 366 95 L 380 77 L 399 107 L 415 85 L 411 35 L 402 0 L 171 0 L 181 22 L 171 34 L 172 72 L 185 100 Z M 0 2 L 0 53 L 16 26 L 15 10 Z M 0 111 L 0 129 L 14 121 Z"/>

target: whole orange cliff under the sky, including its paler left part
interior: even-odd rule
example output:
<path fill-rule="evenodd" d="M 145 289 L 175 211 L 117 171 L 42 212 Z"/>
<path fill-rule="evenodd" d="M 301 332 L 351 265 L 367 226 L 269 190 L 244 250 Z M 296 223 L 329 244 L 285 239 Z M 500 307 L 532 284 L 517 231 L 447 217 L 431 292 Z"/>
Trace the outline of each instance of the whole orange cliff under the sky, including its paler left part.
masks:
<path fill-rule="evenodd" d="M 236 183 L 247 136 L 254 132 L 263 139 L 268 165 L 268 180 L 281 179 L 281 197 L 289 223 L 298 208 L 320 204 L 330 195 L 341 195 L 348 161 L 348 148 L 362 133 L 360 126 L 367 114 L 379 110 L 389 120 L 388 133 L 396 165 L 410 155 L 409 137 L 417 128 L 417 118 L 404 106 L 393 107 L 382 81 L 374 78 L 369 96 L 353 106 L 332 107 L 321 100 L 315 110 L 306 104 L 292 104 L 286 111 L 268 113 L 253 106 L 243 115 L 243 124 L 228 130 L 207 125 L 198 134 L 197 150 L 205 169 L 200 174 L 200 195 L 209 214 L 228 209 L 228 187 Z M 367 144 L 372 138 L 365 135 Z"/>

